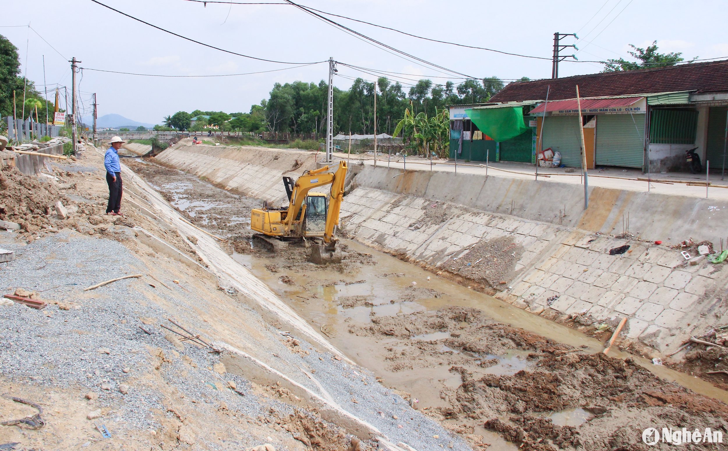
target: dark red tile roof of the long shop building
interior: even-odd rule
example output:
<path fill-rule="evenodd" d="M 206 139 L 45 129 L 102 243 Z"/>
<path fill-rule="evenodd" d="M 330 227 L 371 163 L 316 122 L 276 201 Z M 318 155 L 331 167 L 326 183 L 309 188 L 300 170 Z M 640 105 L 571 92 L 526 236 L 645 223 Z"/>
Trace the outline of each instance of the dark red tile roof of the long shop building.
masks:
<path fill-rule="evenodd" d="M 543 100 L 551 87 L 549 100 L 576 98 L 575 85 L 582 97 L 633 95 L 697 91 L 697 93 L 728 92 L 728 60 L 708 63 L 681 64 L 636 71 L 606 72 L 575 75 L 559 79 L 532 82 L 513 82 L 499 91 L 491 102 Z"/>

